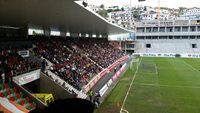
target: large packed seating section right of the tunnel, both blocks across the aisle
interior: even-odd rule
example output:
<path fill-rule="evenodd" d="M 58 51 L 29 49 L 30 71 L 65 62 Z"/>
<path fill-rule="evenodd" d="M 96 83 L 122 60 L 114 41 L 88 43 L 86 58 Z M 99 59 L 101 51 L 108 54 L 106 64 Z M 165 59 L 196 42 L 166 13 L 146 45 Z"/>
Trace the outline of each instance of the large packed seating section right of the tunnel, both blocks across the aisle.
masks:
<path fill-rule="evenodd" d="M 37 38 L 34 44 L 34 52 L 54 64 L 50 70 L 78 90 L 125 55 L 105 39 Z"/>

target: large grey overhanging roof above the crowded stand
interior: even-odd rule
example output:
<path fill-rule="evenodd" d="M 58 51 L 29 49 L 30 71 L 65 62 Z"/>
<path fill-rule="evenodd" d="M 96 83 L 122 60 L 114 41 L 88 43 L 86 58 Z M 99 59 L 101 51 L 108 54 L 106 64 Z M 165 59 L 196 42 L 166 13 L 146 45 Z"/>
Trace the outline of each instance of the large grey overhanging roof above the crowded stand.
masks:
<path fill-rule="evenodd" d="M 74 0 L 0 0 L 0 25 L 28 24 L 71 33 L 120 34 L 128 30 L 107 22 Z"/>

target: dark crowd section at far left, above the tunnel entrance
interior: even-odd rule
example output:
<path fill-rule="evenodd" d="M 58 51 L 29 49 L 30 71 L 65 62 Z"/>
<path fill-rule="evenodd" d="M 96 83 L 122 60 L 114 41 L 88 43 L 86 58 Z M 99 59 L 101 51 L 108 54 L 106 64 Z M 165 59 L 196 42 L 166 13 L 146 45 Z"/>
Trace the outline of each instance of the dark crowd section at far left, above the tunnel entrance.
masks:
<path fill-rule="evenodd" d="M 4 74 L 6 80 L 39 68 L 39 63 L 24 59 L 17 53 L 17 50 L 0 51 L 0 75 Z"/>

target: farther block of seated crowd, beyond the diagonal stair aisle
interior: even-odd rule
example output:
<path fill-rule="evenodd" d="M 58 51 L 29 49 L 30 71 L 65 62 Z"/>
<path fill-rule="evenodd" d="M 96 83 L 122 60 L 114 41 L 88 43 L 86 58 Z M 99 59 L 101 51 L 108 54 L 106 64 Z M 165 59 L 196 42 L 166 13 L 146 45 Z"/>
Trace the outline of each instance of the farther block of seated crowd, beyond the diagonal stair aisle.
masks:
<path fill-rule="evenodd" d="M 97 62 L 103 68 L 107 68 L 117 59 L 124 56 L 124 52 L 114 49 L 107 39 L 80 39 L 77 43 L 87 54 L 89 58 Z"/>

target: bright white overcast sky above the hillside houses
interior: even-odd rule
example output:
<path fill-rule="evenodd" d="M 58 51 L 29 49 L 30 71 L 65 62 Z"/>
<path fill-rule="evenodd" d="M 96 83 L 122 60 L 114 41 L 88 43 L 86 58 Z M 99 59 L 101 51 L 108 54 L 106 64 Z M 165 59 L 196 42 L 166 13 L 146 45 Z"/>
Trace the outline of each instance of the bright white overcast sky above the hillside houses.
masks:
<path fill-rule="evenodd" d="M 89 4 L 100 5 L 104 4 L 105 6 L 123 6 L 128 5 L 130 0 L 87 0 Z M 158 0 L 146 0 L 145 2 L 138 2 L 138 0 L 131 0 L 132 6 L 136 5 L 147 5 L 147 6 L 158 6 Z M 200 0 L 160 0 L 161 7 L 200 7 Z"/>

